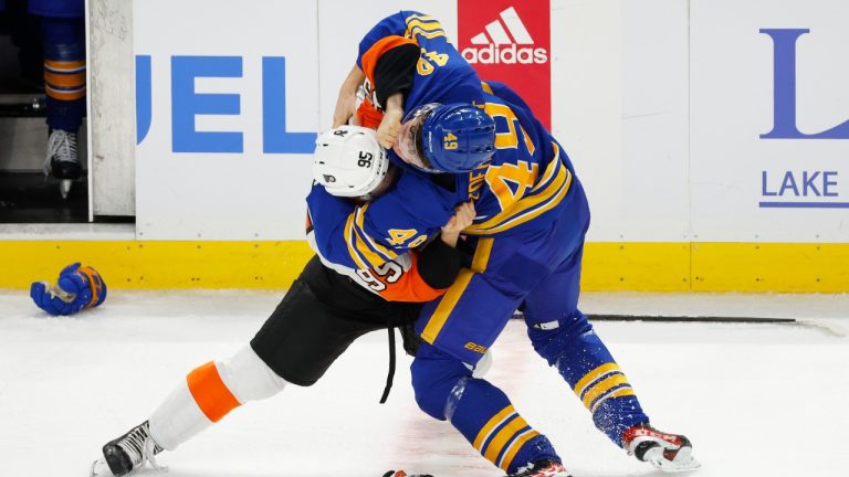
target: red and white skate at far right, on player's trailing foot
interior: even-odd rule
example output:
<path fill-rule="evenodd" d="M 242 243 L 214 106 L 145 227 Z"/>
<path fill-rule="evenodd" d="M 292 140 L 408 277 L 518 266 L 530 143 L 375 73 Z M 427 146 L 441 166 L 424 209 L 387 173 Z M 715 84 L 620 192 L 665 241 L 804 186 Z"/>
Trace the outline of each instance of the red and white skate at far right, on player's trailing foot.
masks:
<path fill-rule="evenodd" d="M 637 459 L 664 471 L 689 471 L 701 466 L 693 458 L 693 445 L 689 438 L 658 431 L 648 424 L 638 424 L 625 431 L 622 446 Z"/>

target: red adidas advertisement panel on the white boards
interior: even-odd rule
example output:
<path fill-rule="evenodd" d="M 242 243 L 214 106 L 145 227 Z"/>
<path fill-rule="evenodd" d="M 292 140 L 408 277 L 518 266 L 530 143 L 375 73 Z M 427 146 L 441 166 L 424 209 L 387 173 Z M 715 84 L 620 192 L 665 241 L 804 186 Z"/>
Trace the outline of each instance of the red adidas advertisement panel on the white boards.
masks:
<path fill-rule="evenodd" d="M 551 129 L 549 0 L 458 0 L 459 50 L 481 78 L 506 83 Z"/>

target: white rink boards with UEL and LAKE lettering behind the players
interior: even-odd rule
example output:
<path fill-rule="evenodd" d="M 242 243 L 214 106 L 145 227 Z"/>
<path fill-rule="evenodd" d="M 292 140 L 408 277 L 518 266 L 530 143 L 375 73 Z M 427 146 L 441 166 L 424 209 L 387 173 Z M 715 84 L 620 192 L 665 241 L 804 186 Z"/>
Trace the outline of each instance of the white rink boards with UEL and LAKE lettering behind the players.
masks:
<path fill-rule="evenodd" d="M 302 239 L 312 140 L 361 35 L 400 8 L 468 59 L 515 10 L 544 60 L 470 62 L 544 93 L 589 242 L 849 242 L 842 0 L 134 2 L 137 237 Z"/>

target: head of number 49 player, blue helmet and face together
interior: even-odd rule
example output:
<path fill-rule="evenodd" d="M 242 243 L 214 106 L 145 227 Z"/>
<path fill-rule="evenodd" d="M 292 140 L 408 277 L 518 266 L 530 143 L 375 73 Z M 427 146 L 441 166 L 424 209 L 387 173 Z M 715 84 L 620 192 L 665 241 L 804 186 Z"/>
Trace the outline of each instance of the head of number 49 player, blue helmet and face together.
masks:
<path fill-rule="evenodd" d="M 469 172 L 495 152 L 495 121 L 462 103 L 427 104 L 407 114 L 396 152 L 428 172 Z"/>

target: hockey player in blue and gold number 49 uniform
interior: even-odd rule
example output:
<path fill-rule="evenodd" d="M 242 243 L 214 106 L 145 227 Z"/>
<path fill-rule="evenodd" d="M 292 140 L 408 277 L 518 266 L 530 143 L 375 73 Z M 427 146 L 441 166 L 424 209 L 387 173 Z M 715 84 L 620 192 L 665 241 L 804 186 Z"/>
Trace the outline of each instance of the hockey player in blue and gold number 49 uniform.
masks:
<path fill-rule="evenodd" d="M 358 81 L 369 100 L 355 110 Z M 548 439 L 465 365 L 478 362 L 522 308 L 534 349 L 600 431 L 662 469 L 698 467 L 685 437 L 649 425 L 628 379 L 577 308 L 589 209 L 569 158 L 526 104 L 505 85 L 482 84 L 439 22 L 402 11 L 360 43 L 334 123 L 349 116 L 376 127 L 407 170 L 392 191 L 364 206 L 313 188 L 311 210 L 335 224 L 316 229 L 328 259 L 379 266 L 438 232 L 458 203 L 472 200 L 476 208 L 464 230 L 473 256 L 417 322 L 424 340 L 411 367 L 419 406 L 451 422 L 511 476 L 566 476 Z"/>

